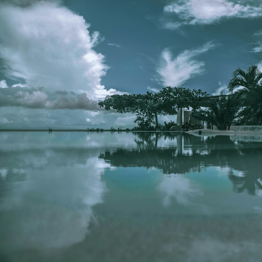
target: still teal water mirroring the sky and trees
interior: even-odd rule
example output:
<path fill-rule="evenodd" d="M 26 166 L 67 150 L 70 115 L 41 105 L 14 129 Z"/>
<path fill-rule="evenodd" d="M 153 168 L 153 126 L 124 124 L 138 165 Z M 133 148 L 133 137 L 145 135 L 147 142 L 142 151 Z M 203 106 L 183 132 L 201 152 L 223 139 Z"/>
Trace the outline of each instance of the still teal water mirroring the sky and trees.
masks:
<path fill-rule="evenodd" d="M 0 132 L 0 261 L 262 261 L 262 136 Z"/>

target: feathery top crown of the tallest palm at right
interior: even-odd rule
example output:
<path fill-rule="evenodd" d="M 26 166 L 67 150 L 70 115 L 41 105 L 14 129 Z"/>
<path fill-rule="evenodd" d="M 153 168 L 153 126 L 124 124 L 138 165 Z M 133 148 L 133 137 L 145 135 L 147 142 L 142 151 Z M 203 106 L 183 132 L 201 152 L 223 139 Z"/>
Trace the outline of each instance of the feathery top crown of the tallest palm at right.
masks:
<path fill-rule="evenodd" d="M 233 89 L 237 86 L 242 86 L 243 91 L 261 87 L 262 72 L 257 65 L 251 65 L 246 71 L 239 67 L 232 73 L 232 79 L 227 86 L 228 92 L 233 93 Z"/>

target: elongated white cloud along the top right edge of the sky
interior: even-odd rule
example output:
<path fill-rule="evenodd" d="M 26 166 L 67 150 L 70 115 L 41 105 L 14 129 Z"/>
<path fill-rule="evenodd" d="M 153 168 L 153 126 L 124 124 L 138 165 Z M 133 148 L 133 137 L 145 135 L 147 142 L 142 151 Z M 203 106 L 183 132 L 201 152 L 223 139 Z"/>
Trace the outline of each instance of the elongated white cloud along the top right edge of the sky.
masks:
<path fill-rule="evenodd" d="M 262 4 L 255 6 L 245 4 L 243 1 L 179 0 L 165 6 L 164 12 L 177 14 L 181 19 L 180 25 L 212 24 L 222 18 L 260 17 L 262 16 Z"/>

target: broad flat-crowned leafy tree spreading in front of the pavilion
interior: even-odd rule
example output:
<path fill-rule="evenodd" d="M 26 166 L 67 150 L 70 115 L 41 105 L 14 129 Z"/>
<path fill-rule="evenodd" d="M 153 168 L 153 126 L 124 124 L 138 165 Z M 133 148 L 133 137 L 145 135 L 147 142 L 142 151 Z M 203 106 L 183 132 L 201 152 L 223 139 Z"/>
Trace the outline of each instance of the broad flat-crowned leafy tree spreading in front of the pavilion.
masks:
<path fill-rule="evenodd" d="M 158 115 L 177 114 L 177 108 L 180 107 L 199 108 L 198 102 L 204 96 L 206 97 L 208 94 L 200 89 L 190 90 L 168 86 L 156 94 L 146 92 L 146 94 L 138 95 L 112 95 L 98 104 L 100 107 L 105 107 L 106 110 L 113 108 L 120 113 L 131 112 L 135 114 L 137 116 L 135 123 L 146 130 L 154 124 L 158 127 Z"/>

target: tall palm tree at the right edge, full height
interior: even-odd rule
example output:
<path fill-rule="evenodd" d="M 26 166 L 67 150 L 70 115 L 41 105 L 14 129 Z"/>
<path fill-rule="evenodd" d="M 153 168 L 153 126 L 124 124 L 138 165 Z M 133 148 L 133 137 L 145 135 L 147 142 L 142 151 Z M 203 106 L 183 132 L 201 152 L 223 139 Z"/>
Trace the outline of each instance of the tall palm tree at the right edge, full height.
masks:
<path fill-rule="evenodd" d="M 238 124 L 262 124 L 262 72 L 257 65 L 251 65 L 246 71 L 237 68 L 232 74 L 233 78 L 228 84 L 228 91 L 241 86 L 234 92 L 242 110 L 239 113 Z"/>

